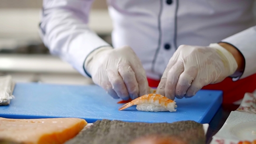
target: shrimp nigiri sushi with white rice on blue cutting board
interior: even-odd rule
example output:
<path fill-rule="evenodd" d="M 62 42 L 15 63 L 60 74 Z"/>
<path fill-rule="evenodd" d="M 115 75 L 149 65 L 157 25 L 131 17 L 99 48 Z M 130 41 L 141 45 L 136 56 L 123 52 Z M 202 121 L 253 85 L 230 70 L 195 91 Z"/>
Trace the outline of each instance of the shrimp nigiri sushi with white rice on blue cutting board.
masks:
<path fill-rule="evenodd" d="M 137 105 L 136 109 L 138 111 L 176 111 L 177 108 L 176 102 L 166 98 L 163 95 L 159 94 L 148 94 L 138 97 L 131 102 L 128 102 L 125 105 L 119 107 L 119 110 L 124 110 L 129 108 L 132 105 Z"/>

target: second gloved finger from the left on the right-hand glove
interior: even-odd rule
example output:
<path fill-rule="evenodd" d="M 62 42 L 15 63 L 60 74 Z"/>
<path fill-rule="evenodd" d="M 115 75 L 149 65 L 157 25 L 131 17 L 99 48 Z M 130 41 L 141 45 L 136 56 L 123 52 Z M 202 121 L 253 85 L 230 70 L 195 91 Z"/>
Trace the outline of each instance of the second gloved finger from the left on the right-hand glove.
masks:
<path fill-rule="evenodd" d="M 184 72 L 184 64 L 182 61 L 177 61 L 177 63 L 175 63 L 167 73 L 167 80 L 164 89 L 165 96 L 167 98 L 175 98 L 176 85 L 182 72 Z"/>

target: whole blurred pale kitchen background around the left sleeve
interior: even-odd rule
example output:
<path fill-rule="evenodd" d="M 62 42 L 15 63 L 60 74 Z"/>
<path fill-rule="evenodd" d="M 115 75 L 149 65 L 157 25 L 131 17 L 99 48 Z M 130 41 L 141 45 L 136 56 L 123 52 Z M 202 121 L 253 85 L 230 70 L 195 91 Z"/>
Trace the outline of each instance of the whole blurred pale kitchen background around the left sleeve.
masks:
<path fill-rule="evenodd" d="M 93 84 L 67 62 L 49 54 L 39 37 L 43 0 L 0 0 L 0 75 L 16 82 Z M 104 23 L 104 24 L 102 24 Z M 95 0 L 89 26 L 111 43 L 112 22 L 106 0 Z"/>

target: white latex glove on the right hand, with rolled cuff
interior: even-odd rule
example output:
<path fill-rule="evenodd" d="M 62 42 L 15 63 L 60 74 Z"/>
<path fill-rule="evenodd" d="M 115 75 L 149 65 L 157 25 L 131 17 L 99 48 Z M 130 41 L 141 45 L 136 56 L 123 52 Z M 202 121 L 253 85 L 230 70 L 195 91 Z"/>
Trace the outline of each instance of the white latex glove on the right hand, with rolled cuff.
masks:
<path fill-rule="evenodd" d="M 217 43 L 181 45 L 167 64 L 156 93 L 171 99 L 192 97 L 203 86 L 232 75 L 237 66 L 233 55 Z"/>

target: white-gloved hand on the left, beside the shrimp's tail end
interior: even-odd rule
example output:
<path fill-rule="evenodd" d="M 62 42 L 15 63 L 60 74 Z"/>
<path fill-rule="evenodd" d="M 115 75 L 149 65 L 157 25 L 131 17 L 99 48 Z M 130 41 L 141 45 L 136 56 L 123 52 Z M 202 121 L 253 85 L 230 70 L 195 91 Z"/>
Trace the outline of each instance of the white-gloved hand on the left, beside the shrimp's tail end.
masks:
<path fill-rule="evenodd" d="M 95 50 L 87 57 L 85 69 L 113 98 L 128 100 L 148 94 L 146 72 L 129 46 Z"/>

